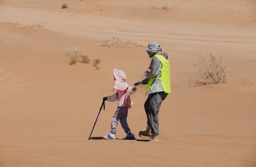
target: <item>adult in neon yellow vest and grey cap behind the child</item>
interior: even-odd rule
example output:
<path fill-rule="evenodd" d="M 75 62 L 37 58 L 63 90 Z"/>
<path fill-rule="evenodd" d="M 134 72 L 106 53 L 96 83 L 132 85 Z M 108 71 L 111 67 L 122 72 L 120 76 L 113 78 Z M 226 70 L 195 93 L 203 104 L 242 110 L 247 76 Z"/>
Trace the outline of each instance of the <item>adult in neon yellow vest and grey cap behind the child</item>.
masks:
<path fill-rule="evenodd" d="M 144 72 L 146 77 L 141 82 L 134 83 L 135 86 L 146 85 L 148 98 L 144 103 L 147 115 L 147 126 L 145 131 L 140 131 L 139 136 L 150 138 L 151 141 L 159 141 L 159 119 L 158 114 L 162 101 L 171 93 L 170 84 L 170 62 L 167 53 L 156 41 L 152 41 L 146 48 L 151 64 Z"/>

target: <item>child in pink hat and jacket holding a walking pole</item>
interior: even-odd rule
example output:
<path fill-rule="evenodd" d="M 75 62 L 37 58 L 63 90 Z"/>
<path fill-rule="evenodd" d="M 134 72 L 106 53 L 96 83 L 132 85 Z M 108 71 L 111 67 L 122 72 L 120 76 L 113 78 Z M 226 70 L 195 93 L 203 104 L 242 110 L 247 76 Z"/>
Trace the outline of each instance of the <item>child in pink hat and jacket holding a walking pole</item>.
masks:
<path fill-rule="evenodd" d="M 117 89 L 117 92 L 109 97 L 104 97 L 104 101 L 114 102 L 118 100 L 117 111 L 112 118 L 110 134 L 106 135 L 104 138 L 115 139 L 115 132 L 117 129 L 118 120 L 121 122 L 123 130 L 126 132 L 126 137 L 124 140 L 135 140 L 133 133 L 131 133 L 130 128 L 127 124 L 127 114 L 128 108 L 131 108 L 133 102 L 131 102 L 130 95 L 133 94 L 137 89 L 136 87 L 130 87 L 126 83 L 126 74 L 122 70 L 113 69 L 114 73 L 114 89 Z"/>

